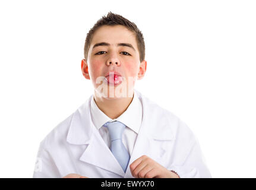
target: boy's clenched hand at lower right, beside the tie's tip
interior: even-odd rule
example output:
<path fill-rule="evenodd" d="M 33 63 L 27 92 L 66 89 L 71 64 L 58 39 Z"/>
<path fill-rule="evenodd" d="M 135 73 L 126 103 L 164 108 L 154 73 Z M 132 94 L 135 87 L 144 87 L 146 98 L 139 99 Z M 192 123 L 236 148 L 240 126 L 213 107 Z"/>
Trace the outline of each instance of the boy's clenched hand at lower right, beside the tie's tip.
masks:
<path fill-rule="evenodd" d="M 174 172 L 143 155 L 129 166 L 134 178 L 179 178 Z"/>

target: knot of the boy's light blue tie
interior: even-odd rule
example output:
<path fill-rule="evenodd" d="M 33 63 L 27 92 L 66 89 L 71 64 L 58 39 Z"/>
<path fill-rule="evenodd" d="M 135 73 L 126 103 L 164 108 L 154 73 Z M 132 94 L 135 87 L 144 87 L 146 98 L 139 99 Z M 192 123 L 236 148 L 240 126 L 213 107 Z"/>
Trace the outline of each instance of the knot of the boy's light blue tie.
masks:
<path fill-rule="evenodd" d="M 106 122 L 106 124 L 104 124 L 103 126 L 108 128 L 111 141 L 117 140 L 119 138 L 122 139 L 122 134 L 126 127 L 123 123 L 119 121 Z"/>

